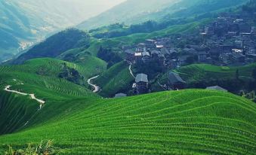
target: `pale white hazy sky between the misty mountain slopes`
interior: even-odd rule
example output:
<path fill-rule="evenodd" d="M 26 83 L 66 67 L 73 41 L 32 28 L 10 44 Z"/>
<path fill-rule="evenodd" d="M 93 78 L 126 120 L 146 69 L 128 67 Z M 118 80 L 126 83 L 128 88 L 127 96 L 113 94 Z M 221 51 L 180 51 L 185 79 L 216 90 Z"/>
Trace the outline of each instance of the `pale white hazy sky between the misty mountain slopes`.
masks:
<path fill-rule="evenodd" d="M 2 1 L 2 0 L 0 0 Z M 51 19 L 55 15 L 66 17 L 73 24 L 81 23 L 90 17 L 113 8 L 126 0 L 6 0 L 16 1 L 36 15 Z"/>

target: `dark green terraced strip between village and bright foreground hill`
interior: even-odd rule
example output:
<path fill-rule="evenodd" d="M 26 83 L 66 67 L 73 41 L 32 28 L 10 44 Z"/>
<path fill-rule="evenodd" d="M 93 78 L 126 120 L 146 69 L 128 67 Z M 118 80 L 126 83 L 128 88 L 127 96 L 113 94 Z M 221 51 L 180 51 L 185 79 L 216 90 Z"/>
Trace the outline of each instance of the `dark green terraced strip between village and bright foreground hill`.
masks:
<path fill-rule="evenodd" d="M 253 93 L 255 91 L 253 77 L 255 69 L 255 63 L 244 66 L 193 64 L 172 71 L 186 81 L 187 88 L 205 89 L 206 87 L 220 86 L 231 93 L 241 95 L 242 92 L 250 93 L 252 91 Z M 169 71 L 159 77 L 160 84 L 168 84 L 168 73 Z M 157 85 L 155 83 L 154 87 Z M 156 91 L 160 90 L 162 89 L 156 89 Z"/>

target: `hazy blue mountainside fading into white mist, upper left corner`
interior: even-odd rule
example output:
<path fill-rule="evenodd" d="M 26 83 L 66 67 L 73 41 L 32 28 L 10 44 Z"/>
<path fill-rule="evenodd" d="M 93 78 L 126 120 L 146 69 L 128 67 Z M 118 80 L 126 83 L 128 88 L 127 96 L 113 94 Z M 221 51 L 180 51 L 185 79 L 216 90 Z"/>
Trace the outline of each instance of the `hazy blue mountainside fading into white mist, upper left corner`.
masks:
<path fill-rule="evenodd" d="M 122 0 L 0 1 L 0 62 L 45 36 L 100 14 Z M 20 47 L 19 50 L 17 50 Z"/>

